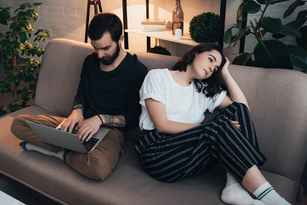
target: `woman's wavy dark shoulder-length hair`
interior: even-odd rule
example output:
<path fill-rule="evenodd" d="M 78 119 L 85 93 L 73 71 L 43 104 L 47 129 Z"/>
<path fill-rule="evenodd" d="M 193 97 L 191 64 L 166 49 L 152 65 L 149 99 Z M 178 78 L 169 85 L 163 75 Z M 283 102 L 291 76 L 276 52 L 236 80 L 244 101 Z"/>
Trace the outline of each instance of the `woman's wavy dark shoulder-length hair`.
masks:
<path fill-rule="evenodd" d="M 203 92 L 207 97 L 213 97 L 217 93 L 221 93 L 222 90 L 227 90 L 225 82 L 221 75 L 221 70 L 226 63 L 226 58 L 222 53 L 222 49 L 215 44 L 212 43 L 203 43 L 197 45 L 186 52 L 183 57 L 171 68 L 171 70 L 179 70 L 179 71 L 187 71 L 187 66 L 192 64 L 196 54 L 201 54 L 206 51 L 216 50 L 222 56 L 222 64 L 217 69 L 216 72 L 212 73 L 209 78 L 206 79 L 195 79 L 195 87 L 196 91 Z M 205 86 L 206 85 L 206 86 Z"/>

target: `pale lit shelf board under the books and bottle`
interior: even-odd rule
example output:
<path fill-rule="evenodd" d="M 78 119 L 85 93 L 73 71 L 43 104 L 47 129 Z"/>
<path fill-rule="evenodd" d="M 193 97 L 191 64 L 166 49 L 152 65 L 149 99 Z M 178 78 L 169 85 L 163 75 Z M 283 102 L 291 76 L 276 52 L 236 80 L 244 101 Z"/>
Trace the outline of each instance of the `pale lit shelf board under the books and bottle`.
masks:
<path fill-rule="evenodd" d="M 181 39 L 176 39 L 175 36 L 172 34 L 171 29 L 164 29 L 164 31 L 142 31 L 142 29 L 125 29 L 125 32 L 144 35 L 144 36 L 153 37 L 153 38 L 159 38 L 163 40 L 168 40 L 170 42 L 176 42 L 179 44 L 186 44 L 190 46 L 197 46 L 200 44 L 200 43 L 194 42 L 194 40 L 191 39 L 189 33 L 184 33 Z M 224 48 L 227 48 L 227 47 L 228 45 L 224 44 Z"/>

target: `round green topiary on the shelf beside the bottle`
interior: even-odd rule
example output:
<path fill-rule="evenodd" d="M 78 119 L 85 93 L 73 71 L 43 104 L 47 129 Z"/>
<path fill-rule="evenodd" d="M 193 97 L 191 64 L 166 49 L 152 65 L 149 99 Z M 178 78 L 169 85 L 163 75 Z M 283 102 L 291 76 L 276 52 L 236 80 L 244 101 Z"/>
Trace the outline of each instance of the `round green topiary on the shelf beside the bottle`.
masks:
<path fill-rule="evenodd" d="M 220 24 L 220 15 L 203 12 L 192 18 L 189 32 L 192 40 L 198 43 L 217 42 L 218 24 Z"/>

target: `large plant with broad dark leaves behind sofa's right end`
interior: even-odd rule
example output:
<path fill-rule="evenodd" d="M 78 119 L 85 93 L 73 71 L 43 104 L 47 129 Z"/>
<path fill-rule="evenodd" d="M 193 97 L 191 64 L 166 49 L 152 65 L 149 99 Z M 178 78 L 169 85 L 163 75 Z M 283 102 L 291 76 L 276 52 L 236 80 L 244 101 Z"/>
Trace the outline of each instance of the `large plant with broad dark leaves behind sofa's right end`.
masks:
<path fill-rule="evenodd" d="M 269 6 L 288 1 L 290 0 L 249 0 L 238 7 L 237 22 L 225 32 L 224 42 L 229 46 L 233 44 L 233 47 L 235 47 L 241 38 L 252 34 L 256 37 L 258 43 L 253 53 L 240 53 L 234 58 L 233 64 L 262 68 L 293 69 L 296 67 L 302 71 L 307 71 L 307 27 L 302 27 L 307 20 L 307 10 L 300 11 L 296 19 L 286 25 L 282 25 L 279 18 L 265 16 Z M 283 18 L 287 18 L 298 6 L 303 6 L 305 2 L 302 0 L 293 2 L 284 12 Z M 261 5 L 265 5 L 263 10 L 261 10 Z M 242 23 L 247 20 L 240 19 L 244 12 L 249 14 L 262 12 L 262 14 L 258 20 L 254 19 L 254 23 L 251 20 L 250 26 L 242 28 Z M 232 31 L 235 28 L 238 32 L 233 35 Z M 273 34 L 275 40 L 264 40 L 264 36 L 269 34 Z M 284 36 L 295 37 L 298 46 L 285 45 L 277 40 Z"/>

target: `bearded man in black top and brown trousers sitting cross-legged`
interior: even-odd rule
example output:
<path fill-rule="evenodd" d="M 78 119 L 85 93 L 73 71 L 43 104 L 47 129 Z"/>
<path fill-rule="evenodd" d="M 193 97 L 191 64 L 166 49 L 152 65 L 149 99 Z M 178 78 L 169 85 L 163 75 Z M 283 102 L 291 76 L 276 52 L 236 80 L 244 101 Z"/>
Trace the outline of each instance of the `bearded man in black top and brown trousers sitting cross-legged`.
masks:
<path fill-rule="evenodd" d="M 124 132 L 138 125 L 141 107 L 139 90 L 147 68 L 121 48 L 122 23 L 112 13 L 94 16 L 88 31 L 95 52 L 84 60 L 73 111 L 65 119 L 48 115 L 19 115 L 11 131 L 26 151 L 38 151 L 63 159 L 77 172 L 93 179 L 105 179 L 114 169 L 121 153 Z M 95 150 L 81 154 L 47 144 L 32 131 L 26 121 L 72 132 L 83 142 L 99 129 L 109 129 Z"/>

